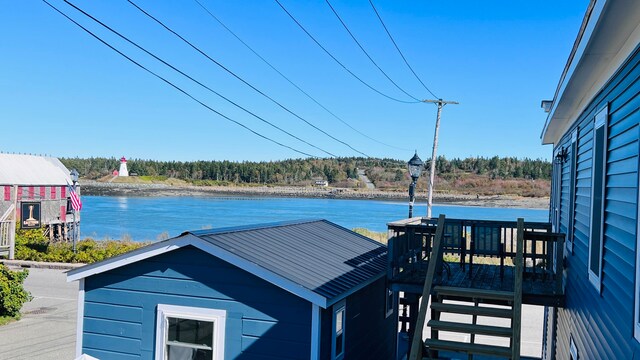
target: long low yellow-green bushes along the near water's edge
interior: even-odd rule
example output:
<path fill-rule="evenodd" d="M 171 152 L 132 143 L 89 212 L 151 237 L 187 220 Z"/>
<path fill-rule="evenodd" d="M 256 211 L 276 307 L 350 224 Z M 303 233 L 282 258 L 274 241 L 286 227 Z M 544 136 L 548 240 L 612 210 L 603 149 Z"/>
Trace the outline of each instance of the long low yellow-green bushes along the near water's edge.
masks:
<path fill-rule="evenodd" d="M 141 248 L 148 243 L 130 240 L 96 241 L 90 238 L 78 241 L 77 252 L 68 242 L 50 243 L 39 230 L 18 230 L 16 232 L 15 258 L 44 262 L 93 263 L 131 250 Z"/>

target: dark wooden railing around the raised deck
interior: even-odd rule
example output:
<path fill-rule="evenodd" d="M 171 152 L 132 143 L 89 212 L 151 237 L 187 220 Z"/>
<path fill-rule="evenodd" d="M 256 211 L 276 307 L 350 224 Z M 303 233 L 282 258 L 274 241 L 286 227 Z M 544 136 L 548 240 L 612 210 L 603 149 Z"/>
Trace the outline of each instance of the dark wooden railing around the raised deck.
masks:
<path fill-rule="evenodd" d="M 436 225 L 436 219 L 423 220 L 420 223 L 389 224 L 389 279 L 394 279 L 405 271 L 415 271 L 420 268 L 422 262 L 428 260 Z M 446 219 L 445 228 L 448 232 L 445 231 L 443 234 L 443 253 L 460 256 L 461 263 L 470 267 L 473 266 L 474 258 L 477 260 L 478 257 L 511 260 L 506 264 L 513 265 L 516 257 L 517 227 L 517 221 Z M 557 271 L 561 269 L 557 264 L 562 264 L 564 235 L 551 233 L 551 224 L 546 222 L 525 221 L 523 231 L 525 277 L 540 277 L 544 280 L 554 278 L 558 281 L 560 289 L 562 271 Z M 491 241 L 497 242 L 500 251 L 490 248 L 488 242 Z"/>

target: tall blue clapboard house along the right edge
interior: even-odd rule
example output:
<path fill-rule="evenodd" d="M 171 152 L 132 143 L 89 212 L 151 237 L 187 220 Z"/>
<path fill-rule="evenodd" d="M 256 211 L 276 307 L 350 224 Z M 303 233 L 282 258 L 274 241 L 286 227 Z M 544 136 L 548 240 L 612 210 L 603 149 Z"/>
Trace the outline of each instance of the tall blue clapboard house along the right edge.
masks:
<path fill-rule="evenodd" d="M 640 358 L 640 2 L 592 0 L 552 101 L 551 220 L 567 234 L 565 305 L 546 359 Z"/>

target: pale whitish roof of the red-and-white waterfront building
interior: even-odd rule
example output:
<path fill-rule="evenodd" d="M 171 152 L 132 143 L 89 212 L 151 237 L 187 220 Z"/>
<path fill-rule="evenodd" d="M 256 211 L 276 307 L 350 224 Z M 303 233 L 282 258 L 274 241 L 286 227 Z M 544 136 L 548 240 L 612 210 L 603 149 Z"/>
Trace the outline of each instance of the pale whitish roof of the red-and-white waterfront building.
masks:
<path fill-rule="evenodd" d="M 0 154 L 0 185 L 71 184 L 69 170 L 55 157 Z"/>

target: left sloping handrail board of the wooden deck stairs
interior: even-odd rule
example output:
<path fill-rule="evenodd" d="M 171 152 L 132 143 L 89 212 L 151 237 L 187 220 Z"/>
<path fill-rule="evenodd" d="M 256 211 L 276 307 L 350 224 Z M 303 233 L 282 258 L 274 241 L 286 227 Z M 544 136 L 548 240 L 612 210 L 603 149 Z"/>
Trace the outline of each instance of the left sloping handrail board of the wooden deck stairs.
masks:
<path fill-rule="evenodd" d="M 444 215 L 440 214 L 438 217 L 438 225 L 436 227 L 436 235 L 433 239 L 433 248 L 431 249 L 431 255 L 429 255 L 429 266 L 427 268 L 427 276 L 424 280 L 424 287 L 422 288 L 422 302 L 420 303 L 420 312 L 418 313 L 418 320 L 416 321 L 413 331 L 409 360 L 422 359 L 422 347 L 424 346 L 422 330 L 427 317 L 429 296 L 431 295 L 431 286 L 433 285 L 433 276 L 436 270 L 436 259 L 442 257 L 442 247 L 440 244 L 442 243 L 442 234 L 444 233 L 444 219 Z"/>

